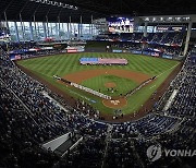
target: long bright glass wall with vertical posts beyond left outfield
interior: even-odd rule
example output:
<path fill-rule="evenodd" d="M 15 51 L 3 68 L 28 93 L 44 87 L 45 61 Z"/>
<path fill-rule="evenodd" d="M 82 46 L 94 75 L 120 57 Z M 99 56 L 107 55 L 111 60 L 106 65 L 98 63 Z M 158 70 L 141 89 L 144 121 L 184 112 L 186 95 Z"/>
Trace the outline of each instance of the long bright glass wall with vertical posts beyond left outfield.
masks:
<path fill-rule="evenodd" d="M 78 23 L 16 22 L 16 27 L 20 40 L 44 40 L 46 37 L 61 40 L 69 38 L 91 39 L 93 36 L 100 33 L 97 25 Z M 17 40 L 14 22 L 9 22 L 9 28 L 11 39 Z"/>

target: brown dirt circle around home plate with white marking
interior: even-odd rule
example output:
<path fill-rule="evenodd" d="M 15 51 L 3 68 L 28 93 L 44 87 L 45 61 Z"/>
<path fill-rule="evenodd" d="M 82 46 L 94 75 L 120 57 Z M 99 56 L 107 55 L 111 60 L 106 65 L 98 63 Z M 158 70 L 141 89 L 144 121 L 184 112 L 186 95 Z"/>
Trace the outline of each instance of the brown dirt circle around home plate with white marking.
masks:
<path fill-rule="evenodd" d="M 127 105 L 127 100 L 124 97 L 117 97 L 113 99 L 103 99 L 102 104 L 109 108 L 121 109 Z"/>

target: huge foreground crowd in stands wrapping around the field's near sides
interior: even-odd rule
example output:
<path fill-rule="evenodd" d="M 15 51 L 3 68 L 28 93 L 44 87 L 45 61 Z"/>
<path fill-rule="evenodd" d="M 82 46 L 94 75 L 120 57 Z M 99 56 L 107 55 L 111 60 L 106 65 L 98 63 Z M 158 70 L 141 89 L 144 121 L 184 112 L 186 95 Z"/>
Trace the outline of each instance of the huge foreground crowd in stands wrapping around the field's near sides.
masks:
<path fill-rule="evenodd" d="M 166 157 L 150 163 L 147 148 L 195 149 L 195 69 L 191 53 L 152 113 L 124 123 L 95 121 L 98 111 L 83 101 L 74 108 L 22 72 L 0 48 L 0 167 L 196 167 L 194 157 Z M 177 89 L 171 107 L 168 98 Z M 51 97 L 46 97 L 46 92 Z M 60 108 L 52 98 L 66 110 Z M 61 158 L 41 144 L 77 131 L 83 141 Z"/>

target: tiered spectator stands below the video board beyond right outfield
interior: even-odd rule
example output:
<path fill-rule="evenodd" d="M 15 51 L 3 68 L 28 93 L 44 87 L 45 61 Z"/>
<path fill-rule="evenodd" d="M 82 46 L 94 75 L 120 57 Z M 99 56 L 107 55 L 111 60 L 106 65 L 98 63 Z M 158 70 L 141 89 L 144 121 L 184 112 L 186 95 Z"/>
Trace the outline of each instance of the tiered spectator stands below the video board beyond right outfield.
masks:
<path fill-rule="evenodd" d="M 143 33 L 109 34 L 98 36 L 96 40 L 110 41 L 114 51 L 172 58 L 183 53 L 184 33 L 148 33 L 146 37 Z"/>

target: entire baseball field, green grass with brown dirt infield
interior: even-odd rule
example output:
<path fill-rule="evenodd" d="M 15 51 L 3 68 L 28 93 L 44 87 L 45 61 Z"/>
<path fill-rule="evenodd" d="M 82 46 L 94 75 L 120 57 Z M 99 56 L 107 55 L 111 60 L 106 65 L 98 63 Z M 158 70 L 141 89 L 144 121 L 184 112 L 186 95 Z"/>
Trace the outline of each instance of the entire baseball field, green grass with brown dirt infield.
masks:
<path fill-rule="evenodd" d="M 127 65 L 82 65 L 79 58 L 124 58 Z M 17 64 L 30 71 L 62 93 L 75 99 L 84 100 L 103 115 L 113 115 L 121 109 L 124 115 L 137 112 L 150 96 L 160 88 L 166 79 L 175 70 L 179 61 L 131 53 L 64 53 L 17 61 Z M 112 97 L 102 99 L 78 88 L 57 81 L 53 75 L 89 87 Z M 145 81 L 156 76 L 143 87 Z M 136 92 L 132 93 L 135 88 Z"/>

